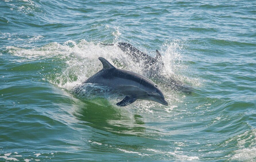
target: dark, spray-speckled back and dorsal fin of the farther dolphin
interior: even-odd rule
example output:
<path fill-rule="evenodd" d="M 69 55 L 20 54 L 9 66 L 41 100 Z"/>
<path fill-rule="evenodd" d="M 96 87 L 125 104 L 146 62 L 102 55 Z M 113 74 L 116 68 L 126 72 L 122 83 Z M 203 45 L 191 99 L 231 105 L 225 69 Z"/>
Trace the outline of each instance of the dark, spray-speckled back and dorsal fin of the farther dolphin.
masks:
<path fill-rule="evenodd" d="M 102 45 L 113 46 L 114 44 L 102 44 Z M 148 68 L 157 62 L 160 62 L 162 65 L 164 64 L 161 61 L 161 54 L 158 50 L 156 50 L 156 57 L 154 58 L 144 52 L 141 52 L 140 50 L 138 50 L 137 48 L 135 48 L 133 45 L 129 43 L 119 42 L 117 46 L 123 52 L 128 54 L 134 62 L 139 63 L 142 60 L 145 68 Z"/>

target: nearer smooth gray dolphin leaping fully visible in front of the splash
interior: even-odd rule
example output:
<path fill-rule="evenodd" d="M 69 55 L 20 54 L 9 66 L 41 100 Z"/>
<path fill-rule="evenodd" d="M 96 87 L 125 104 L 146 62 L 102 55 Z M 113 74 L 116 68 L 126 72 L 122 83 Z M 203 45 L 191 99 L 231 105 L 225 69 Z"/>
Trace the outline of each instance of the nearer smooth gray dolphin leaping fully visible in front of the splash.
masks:
<path fill-rule="evenodd" d="M 117 69 L 105 58 L 99 57 L 103 65 L 98 73 L 83 83 L 106 85 L 124 95 L 125 98 L 117 106 L 127 106 L 137 99 L 151 100 L 168 106 L 161 89 L 150 79 L 137 73 Z"/>

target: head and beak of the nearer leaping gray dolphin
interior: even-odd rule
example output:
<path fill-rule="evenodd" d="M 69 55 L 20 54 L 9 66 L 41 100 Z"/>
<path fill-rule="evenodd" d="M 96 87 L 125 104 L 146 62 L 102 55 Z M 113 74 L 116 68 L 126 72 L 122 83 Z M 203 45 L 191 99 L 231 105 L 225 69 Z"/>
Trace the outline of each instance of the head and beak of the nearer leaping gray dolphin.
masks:
<path fill-rule="evenodd" d="M 168 102 L 164 99 L 164 93 L 160 88 L 155 84 L 154 87 L 151 87 L 151 91 L 147 92 L 146 100 L 152 100 L 154 102 L 158 102 L 159 104 L 163 104 L 168 106 Z"/>

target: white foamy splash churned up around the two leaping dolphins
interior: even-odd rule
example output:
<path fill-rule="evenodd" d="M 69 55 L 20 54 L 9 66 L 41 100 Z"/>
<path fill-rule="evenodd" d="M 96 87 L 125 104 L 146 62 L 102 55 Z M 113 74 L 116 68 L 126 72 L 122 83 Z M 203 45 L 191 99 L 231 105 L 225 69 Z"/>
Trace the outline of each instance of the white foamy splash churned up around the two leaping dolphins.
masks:
<path fill-rule="evenodd" d="M 160 71 L 161 75 L 164 75 L 167 78 L 168 76 L 177 77 L 177 79 L 182 78 L 179 77 L 180 75 L 174 74 L 173 70 L 176 69 L 176 72 L 178 71 L 178 67 L 180 68 L 179 71 L 186 68 L 182 64 L 180 51 L 182 47 L 179 46 L 179 41 L 166 42 L 161 48 L 162 51 L 160 53 L 162 54 L 164 61 L 164 67 Z M 82 93 L 80 94 L 81 96 L 78 95 L 78 97 L 90 97 L 95 95 L 95 93 L 90 94 L 92 91 L 88 90 L 88 88 L 90 89 L 92 86 L 86 85 L 83 87 L 81 86 L 81 83 L 102 69 L 98 57 L 106 58 L 117 68 L 134 71 L 135 73 L 139 73 L 149 78 L 151 77 L 149 69 L 144 69 L 141 65 L 142 63 L 133 62 L 127 54 L 124 54 L 123 51 L 115 45 L 104 46 L 100 43 L 87 42 L 86 40 L 79 40 L 77 42 L 69 40 L 63 44 L 53 42 L 42 47 L 31 49 L 7 46 L 6 50 L 14 56 L 22 57 L 19 61 L 43 60 L 48 64 L 54 64 L 55 68 L 48 69 L 48 73 L 45 72 L 47 71 L 45 67 L 42 67 L 41 71 L 38 73 L 42 74 L 43 78 L 47 79 L 50 83 L 63 89 L 67 89 L 68 91 L 72 91 L 73 87 L 77 90 L 79 87 L 80 90 L 78 91 Z M 152 66 L 152 68 L 154 68 L 154 66 Z M 166 99 L 173 102 L 172 98 L 174 97 L 174 93 L 170 91 L 170 87 L 166 87 L 164 84 L 161 85 L 161 82 L 160 87 L 167 96 Z M 94 88 L 98 89 L 99 87 L 96 86 Z M 98 89 L 98 91 L 102 90 L 104 91 L 104 89 Z M 84 93 L 85 91 L 90 91 L 90 93 L 86 95 L 86 93 Z M 107 91 L 104 91 L 104 93 L 105 92 Z M 105 94 L 103 94 L 103 98 L 107 98 Z M 175 96 L 175 98 L 177 98 L 176 100 L 179 102 L 179 97 Z M 148 105 L 146 103 L 147 102 L 139 102 L 138 106 L 143 107 Z M 154 104 L 149 104 L 148 106 L 154 106 Z"/>

